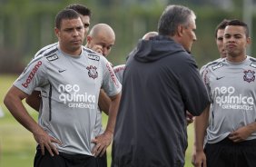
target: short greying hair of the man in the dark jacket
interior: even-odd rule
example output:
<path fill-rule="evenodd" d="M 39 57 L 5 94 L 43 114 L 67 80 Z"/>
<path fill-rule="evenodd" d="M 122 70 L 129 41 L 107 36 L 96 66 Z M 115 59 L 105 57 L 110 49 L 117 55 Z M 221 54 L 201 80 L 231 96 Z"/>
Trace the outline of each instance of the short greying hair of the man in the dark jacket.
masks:
<path fill-rule="evenodd" d="M 190 19 L 195 19 L 191 9 L 182 5 L 168 5 L 162 12 L 158 22 L 158 33 L 162 35 L 174 35 L 178 25 L 188 26 Z"/>

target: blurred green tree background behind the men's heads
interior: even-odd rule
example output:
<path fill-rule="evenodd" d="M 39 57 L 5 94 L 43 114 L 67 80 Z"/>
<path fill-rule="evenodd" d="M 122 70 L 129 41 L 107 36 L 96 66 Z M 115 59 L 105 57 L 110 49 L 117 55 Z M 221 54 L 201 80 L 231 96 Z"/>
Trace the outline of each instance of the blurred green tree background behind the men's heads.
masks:
<path fill-rule="evenodd" d="M 148 31 L 157 30 L 158 19 L 166 5 L 186 5 L 197 15 L 197 42 L 193 44 L 192 54 L 201 67 L 220 56 L 214 39 L 216 25 L 223 18 L 244 20 L 244 9 L 253 9 L 256 5 L 249 2 L 254 1 L 0 0 L 0 74 L 21 73 L 36 51 L 56 42 L 54 16 L 70 4 L 88 6 L 93 12 L 91 25 L 105 23 L 113 27 L 116 42 L 108 57 L 113 65 L 124 64 L 138 39 Z M 251 19 L 251 23 L 255 23 L 254 15 Z M 255 36 L 255 27 L 252 27 L 251 36 Z M 255 49 L 252 43 L 251 53 L 256 52 Z"/>

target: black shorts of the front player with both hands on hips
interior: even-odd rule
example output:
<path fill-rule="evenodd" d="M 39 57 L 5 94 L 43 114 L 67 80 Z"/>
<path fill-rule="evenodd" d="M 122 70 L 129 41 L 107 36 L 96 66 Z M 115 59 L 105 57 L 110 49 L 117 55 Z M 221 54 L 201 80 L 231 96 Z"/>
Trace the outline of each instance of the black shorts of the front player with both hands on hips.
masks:
<path fill-rule="evenodd" d="M 52 157 L 44 149 L 42 155 L 40 149 L 36 149 L 34 156 L 34 167 L 107 167 L 106 153 L 102 157 L 94 157 L 84 154 L 67 154 L 59 152 L 59 155 Z"/>

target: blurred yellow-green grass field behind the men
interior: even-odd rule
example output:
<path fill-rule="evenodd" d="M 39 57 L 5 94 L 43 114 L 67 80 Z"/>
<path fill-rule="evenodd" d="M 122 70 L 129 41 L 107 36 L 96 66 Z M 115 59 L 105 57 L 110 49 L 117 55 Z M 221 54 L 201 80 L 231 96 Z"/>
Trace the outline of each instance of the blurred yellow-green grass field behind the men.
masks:
<path fill-rule="evenodd" d="M 0 118 L 0 167 L 31 167 L 34 162 L 35 142 L 32 133 L 29 133 L 22 125 L 17 123 L 14 117 L 7 111 L 3 103 L 4 95 L 8 88 L 15 81 L 15 75 L 0 74 L 0 106 L 5 116 Z M 34 119 L 37 113 L 26 105 L 27 110 Z M 106 123 L 106 116 L 103 115 L 103 124 Z M 189 147 L 186 152 L 185 167 L 192 167 L 192 125 L 188 127 Z M 110 166 L 111 147 L 107 150 L 108 163 Z"/>

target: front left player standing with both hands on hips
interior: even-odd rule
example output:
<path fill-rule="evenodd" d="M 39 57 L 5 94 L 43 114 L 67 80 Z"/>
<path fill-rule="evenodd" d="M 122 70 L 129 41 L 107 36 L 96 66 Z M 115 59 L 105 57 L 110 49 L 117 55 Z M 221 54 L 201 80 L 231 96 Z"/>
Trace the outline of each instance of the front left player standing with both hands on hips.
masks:
<path fill-rule="evenodd" d="M 98 155 L 105 152 L 113 138 L 122 85 L 111 64 L 83 46 L 84 24 L 78 13 L 72 9 L 60 11 L 55 17 L 54 32 L 57 46 L 28 64 L 4 102 L 38 143 L 35 167 L 96 167 Z M 40 87 L 43 100 L 38 123 L 22 103 L 36 87 Z M 112 104 L 106 130 L 96 136 L 94 125 L 101 88 L 111 97 Z"/>

